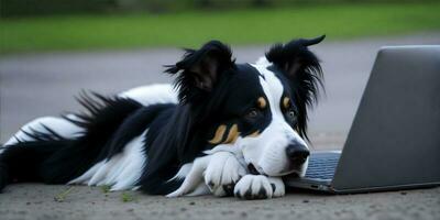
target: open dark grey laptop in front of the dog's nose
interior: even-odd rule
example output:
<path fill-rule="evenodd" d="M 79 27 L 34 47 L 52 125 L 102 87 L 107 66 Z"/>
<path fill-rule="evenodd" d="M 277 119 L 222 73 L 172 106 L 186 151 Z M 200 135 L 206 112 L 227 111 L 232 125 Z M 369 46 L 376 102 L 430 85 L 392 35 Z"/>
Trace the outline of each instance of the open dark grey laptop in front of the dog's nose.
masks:
<path fill-rule="evenodd" d="M 380 50 L 344 147 L 286 185 L 332 194 L 440 185 L 440 45 Z"/>

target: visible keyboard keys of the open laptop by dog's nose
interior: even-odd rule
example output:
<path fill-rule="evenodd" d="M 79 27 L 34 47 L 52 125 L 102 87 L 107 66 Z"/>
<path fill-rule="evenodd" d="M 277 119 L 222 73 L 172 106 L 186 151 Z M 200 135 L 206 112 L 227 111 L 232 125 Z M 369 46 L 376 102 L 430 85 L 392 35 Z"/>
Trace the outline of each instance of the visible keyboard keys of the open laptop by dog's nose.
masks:
<path fill-rule="evenodd" d="M 306 178 L 332 179 L 340 156 L 340 153 L 331 152 L 310 154 Z"/>

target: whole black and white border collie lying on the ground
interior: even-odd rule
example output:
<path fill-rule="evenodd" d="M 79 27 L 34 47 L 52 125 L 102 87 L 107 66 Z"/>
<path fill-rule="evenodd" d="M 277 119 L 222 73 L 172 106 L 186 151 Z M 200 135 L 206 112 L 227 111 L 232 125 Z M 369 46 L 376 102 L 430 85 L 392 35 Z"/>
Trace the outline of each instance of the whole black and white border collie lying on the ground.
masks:
<path fill-rule="evenodd" d="M 114 97 L 84 92 L 82 113 L 38 118 L 0 148 L 0 190 L 11 183 L 108 185 L 168 197 L 280 197 L 304 176 L 307 109 L 321 86 L 311 40 L 275 44 L 238 64 L 211 41 L 166 66 L 169 85 Z"/>

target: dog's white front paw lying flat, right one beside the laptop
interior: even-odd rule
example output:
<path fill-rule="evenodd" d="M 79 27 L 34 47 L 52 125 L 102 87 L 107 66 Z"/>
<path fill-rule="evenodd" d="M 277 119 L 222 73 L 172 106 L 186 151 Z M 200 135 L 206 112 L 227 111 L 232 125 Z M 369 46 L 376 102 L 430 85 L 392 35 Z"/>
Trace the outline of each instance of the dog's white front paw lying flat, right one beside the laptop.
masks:
<path fill-rule="evenodd" d="M 234 188 L 234 195 L 241 199 L 270 199 L 285 195 L 280 178 L 263 175 L 245 175 Z"/>

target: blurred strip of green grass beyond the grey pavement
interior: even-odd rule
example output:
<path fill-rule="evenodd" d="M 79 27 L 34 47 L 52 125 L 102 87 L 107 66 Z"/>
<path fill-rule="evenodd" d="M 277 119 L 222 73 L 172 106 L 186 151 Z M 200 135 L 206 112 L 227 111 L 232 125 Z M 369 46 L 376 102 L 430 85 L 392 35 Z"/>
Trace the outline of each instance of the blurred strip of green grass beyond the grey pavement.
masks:
<path fill-rule="evenodd" d="M 217 38 L 265 44 L 326 33 L 330 40 L 440 31 L 440 2 L 302 6 L 169 14 L 0 20 L 0 53 L 193 47 Z"/>

